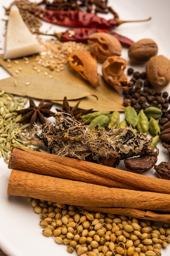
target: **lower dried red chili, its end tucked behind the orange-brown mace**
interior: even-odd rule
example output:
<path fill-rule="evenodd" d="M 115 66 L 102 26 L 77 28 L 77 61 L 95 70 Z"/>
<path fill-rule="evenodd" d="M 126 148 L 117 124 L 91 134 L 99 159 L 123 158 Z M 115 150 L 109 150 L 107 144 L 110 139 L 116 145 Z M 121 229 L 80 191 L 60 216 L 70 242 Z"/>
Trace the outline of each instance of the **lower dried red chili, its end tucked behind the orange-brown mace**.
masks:
<path fill-rule="evenodd" d="M 77 43 L 80 43 L 80 42 L 86 43 L 89 36 L 91 36 L 96 32 L 99 32 L 99 33 L 105 32 L 105 33 L 111 34 L 115 36 L 123 46 L 126 46 L 126 47 L 129 47 L 134 43 L 131 39 L 125 36 L 122 36 L 116 32 L 113 32 L 107 29 L 97 29 L 94 27 L 92 28 L 80 27 L 80 28 L 67 29 L 65 32 L 54 33 L 50 35 L 48 34 L 48 35 L 57 37 L 57 39 L 62 42 L 75 41 Z"/>

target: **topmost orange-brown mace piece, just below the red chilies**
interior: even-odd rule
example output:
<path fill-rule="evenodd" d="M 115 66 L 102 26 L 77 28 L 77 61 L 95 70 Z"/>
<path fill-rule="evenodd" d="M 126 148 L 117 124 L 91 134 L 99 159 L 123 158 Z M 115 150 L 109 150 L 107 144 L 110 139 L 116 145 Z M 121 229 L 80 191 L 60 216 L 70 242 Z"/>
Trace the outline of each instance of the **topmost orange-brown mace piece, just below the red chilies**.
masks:
<path fill-rule="evenodd" d="M 110 56 L 120 56 L 122 45 L 119 40 L 107 33 L 94 33 L 87 40 L 91 52 L 96 56 L 96 60 L 103 63 Z"/>

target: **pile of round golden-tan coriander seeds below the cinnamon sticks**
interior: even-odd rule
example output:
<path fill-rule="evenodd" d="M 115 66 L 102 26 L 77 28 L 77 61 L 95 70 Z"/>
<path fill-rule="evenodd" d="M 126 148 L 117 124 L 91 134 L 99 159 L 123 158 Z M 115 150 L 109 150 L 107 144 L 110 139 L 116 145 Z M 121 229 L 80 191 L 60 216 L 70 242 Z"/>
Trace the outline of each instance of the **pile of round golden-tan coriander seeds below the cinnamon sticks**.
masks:
<path fill-rule="evenodd" d="M 44 236 L 79 256 L 160 256 L 170 243 L 170 224 L 156 227 L 149 220 L 91 213 L 74 206 L 28 198 L 41 214 Z"/>

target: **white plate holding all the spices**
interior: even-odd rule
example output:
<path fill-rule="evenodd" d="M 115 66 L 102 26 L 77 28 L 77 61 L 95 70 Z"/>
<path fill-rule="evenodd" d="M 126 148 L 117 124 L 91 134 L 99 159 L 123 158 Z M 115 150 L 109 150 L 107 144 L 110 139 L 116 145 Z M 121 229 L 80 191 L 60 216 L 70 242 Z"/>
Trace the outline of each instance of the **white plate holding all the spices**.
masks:
<path fill-rule="evenodd" d="M 11 0 L 0 1 L 0 53 L 4 49 L 4 21 L 8 17 L 4 16 L 3 6 L 9 7 Z M 114 2 L 114 3 L 113 3 Z M 170 1 L 169 0 L 115 0 L 109 1 L 120 18 L 124 20 L 144 19 L 152 17 L 149 22 L 126 23 L 117 27 L 115 31 L 127 36 L 134 41 L 142 38 L 152 38 L 159 46 L 158 54 L 170 58 Z M 161 5 L 162 4 L 162 5 Z M 108 18 L 111 16 L 108 15 Z M 44 23 L 44 28 L 49 28 L 50 24 Z M 56 27 L 58 31 L 65 31 L 64 27 Z M 44 30 L 45 31 L 45 30 Z M 123 50 L 122 56 L 127 58 L 127 49 Z M 139 70 L 139 68 L 137 67 Z M 9 77 L 9 74 L 0 68 L 0 79 Z M 166 88 L 170 93 L 170 85 Z M 165 149 L 159 145 L 160 154 L 157 164 L 161 161 L 169 161 L 169 155 Z M 39 227 L 40 216 L 34 213 L 33 207 L 27 198 L 7 196 L 7 184 L 10 175 L 7 164 L 0 158 L 0 248 L 9 256 L 47 256 L 47 255 L 70 255 L 66 246 L 57 245 L 54 240 L 42 235 Z M 154 171 L 149 172 L 154 176 Z M 155 202 L 156 203 L 156 202 Z M 168 249 L 162 249 L 162 256 L 170 255 Z M 72 255 L 77 255 L 75 252 Z"/>

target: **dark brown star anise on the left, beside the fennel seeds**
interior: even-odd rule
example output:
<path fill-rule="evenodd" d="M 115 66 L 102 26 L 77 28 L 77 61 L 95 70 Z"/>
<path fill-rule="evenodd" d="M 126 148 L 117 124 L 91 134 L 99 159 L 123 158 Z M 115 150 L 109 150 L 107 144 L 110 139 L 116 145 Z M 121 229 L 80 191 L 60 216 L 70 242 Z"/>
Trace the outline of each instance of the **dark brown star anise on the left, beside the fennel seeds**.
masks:
<path fill-rule="evenodd" d="M 44 117 L 54 116 L 55 113 L 50 111 L 50 108 L 54 105 L 54 103 L 44 103 L 44 99 L 39 103 L 38 106 L 35 105 L 32 98 L 29 98 L 30 106 L 29 108 L 24 108 L 22 110 L 15 110 L 18 115 L 22 115 L 22 118 L 17 121 L 20 124 L 29 124 L 28 129 L 33 127 L 33 124 L 37 122 L 39 119 L 41 124 L 46 123 L 46 119 Z"/>

